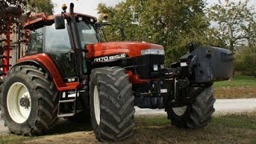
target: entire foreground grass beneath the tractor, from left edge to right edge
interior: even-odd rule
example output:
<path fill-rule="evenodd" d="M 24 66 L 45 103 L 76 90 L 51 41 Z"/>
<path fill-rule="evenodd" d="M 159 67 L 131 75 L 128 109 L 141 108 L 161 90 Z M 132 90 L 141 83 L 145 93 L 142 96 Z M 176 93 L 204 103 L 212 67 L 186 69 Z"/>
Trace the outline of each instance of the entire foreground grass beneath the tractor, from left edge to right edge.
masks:
<path fill-rule="evenodd" d="M 120 143 L 255 143 L 255 117 L 255 113 L 216 116 L 208 126 L 195 130 L 180 130 L 171 126 L 165 116 L 137 117 L 134 136 Z M 54 134 L 35 138 L 6 134 L 0 136 L 0 143 L 97 143 L 87 126 L 77 133 L 74 131 L 78 127 L 82 129 L 81 126 L 60 126 L 68 127 L 69 132 L 64 130 L 66 134 L 63 134 L 63 128 L 55 128 Z"/>

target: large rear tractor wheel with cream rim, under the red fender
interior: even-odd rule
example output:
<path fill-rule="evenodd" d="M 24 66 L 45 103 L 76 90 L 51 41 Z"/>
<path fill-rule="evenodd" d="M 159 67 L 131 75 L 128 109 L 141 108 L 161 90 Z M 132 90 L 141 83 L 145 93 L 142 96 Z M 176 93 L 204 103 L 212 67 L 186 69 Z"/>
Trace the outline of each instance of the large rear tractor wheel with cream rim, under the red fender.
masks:
<path fill-rule="evenodd" d="M 5 126 L 14 134 L 44 134 L 58 121 L 58 91 L 49 74 L 36 66 L 15 66 L 8 72 L 0 106 Z"/>

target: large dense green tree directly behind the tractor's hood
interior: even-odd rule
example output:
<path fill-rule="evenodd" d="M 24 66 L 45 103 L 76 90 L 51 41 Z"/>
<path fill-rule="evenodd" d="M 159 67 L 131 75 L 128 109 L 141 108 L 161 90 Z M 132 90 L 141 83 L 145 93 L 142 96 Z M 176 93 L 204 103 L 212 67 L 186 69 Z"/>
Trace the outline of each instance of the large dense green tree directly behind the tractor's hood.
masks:
<path fill-rule="evenodd" d="M 166 63 L 174 62 L 187 52 L 189 42 L 210 44 L 210 22 L 204 14 L 202 0 L 126 0 L 118 5 L 98 5 L 100 20 L 109 14 L 109 22 L 123 26 L 126 41 L 157 43 L 166 49 Z M 110 40 L 118 41 L 117 28 L 105 28 Z"/>

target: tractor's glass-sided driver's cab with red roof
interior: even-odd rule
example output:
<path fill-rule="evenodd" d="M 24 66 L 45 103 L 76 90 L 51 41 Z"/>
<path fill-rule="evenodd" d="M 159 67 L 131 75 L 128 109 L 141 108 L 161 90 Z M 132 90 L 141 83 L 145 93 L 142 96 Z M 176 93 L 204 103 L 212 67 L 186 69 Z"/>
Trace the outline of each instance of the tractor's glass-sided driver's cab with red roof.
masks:
<path fill-rule="evenodd" d="M 86 14 L 74 14 L 78 29 L 78 41 L 81 48 L 88 44 L 101 42 L 96 30 L 97 19 Z M 63 18 L 63 26 L 59 28 L 56 18 Z M 58 67 L 63 78 L 75 77 L 74 36 L 71 35 L 68 19 L 70 14 L 46 16 L 45 14 L 31 15 L 24 28 L 29 30 L 26 54 L 47 54 Z M 31 19 L 34 19 L 33 21 Z M 57 28 L 57 29 L 56 29 Z M 83 57 L 85 56 L 82 51 Z M 86 74 L 86 62 L 83 73 Z"/>

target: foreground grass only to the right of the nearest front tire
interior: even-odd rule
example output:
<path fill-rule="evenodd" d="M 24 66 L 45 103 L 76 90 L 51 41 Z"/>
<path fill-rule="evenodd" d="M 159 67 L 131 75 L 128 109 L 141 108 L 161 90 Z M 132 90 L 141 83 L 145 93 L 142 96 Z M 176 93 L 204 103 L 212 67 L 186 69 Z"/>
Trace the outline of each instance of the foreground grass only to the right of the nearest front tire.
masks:
<path fill-rule="evenodd" d="M 254 143 L 256 114 L 218 116 L 202 129 L 179 130 L 166 118 L 138 118 L 134 143 Z M 129 143 L 129 142 L 127 142 Z"/>

